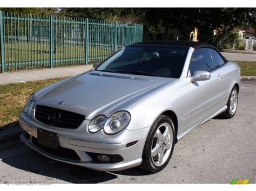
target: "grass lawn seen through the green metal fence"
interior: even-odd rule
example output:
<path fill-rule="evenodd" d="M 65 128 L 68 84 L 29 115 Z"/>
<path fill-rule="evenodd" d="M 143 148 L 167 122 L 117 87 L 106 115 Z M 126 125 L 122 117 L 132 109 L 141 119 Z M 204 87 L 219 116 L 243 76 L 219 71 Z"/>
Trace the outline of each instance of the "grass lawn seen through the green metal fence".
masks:
<path fill-rule="evenodd" d="M 112 47 L 103 47 L 98 45 L 89 45 L 89 57 L 109 56 L 112 54 Z M 20 41 L 4 44 L 5 62 L 25 62 L 49 60 L 49 43 L 22 43 Z M 64 44 L 56 45 L 56 52 L 53 54 L 55 60 L 84 58 L 85 46 Z"/>

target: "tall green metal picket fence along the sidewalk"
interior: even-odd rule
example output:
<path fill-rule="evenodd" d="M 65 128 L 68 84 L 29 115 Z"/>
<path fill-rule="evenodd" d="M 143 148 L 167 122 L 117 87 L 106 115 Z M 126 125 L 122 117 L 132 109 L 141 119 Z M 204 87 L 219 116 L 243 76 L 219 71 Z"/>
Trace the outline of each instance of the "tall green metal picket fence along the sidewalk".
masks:
<path fill-rule="evenodd" d="M 99 62 L 142 36 L 139 24 L 0 11 L 1 71 Z"/>

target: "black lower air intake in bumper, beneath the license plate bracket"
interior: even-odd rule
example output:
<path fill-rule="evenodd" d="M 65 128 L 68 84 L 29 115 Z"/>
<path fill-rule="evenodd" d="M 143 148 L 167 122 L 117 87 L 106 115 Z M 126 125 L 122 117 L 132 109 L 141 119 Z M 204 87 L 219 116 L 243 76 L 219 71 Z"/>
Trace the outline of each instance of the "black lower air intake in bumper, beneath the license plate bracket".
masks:
<path fill-rule="evenodd" d="M 48 146 L 44 146 L 42 144 L 37 143 L 37 138 L 35 137 L 32 137 L 32 143 L 38 148 L 41 148 L 41 150 L 43 150 L 44 152 L 55 155 L 57 157 L 71 159 L 71 160 L 81 160 L 78 154 L 72 149 L 64 148 L 64 147 L 53 149 Z"/>

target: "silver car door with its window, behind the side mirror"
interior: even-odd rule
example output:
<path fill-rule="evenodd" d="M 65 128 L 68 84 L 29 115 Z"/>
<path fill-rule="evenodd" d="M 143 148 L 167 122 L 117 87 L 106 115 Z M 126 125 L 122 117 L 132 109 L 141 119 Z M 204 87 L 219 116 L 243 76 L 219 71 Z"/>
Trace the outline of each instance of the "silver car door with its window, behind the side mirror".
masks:
<path fill-rule="evenodd" d="M 223 88 L 222 74 L 220 70 L 214 69 L 208 48 L 199 48 L 194 51 L 188 75 L 193 75 L 197 70 L 210 72 L 211 79 L 188 84 L 188 112 L 183 118 L 183 120 L 187 120 L 187 128 L 197 126 L 218 110 L 217 102 Z"/>

